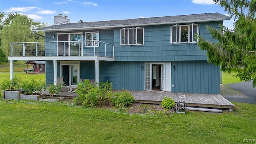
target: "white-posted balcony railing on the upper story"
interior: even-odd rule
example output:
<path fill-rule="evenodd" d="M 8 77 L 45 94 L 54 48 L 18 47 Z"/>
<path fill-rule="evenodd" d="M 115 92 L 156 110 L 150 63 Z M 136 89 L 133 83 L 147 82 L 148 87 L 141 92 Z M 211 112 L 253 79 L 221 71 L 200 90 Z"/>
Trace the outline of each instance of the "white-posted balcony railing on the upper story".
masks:
<path fill-rule="evenodd" d="M 12 42 L 10 56 L 105 56 L 114 57 L 114 46 L 106 42 L 58 41 Z"/>

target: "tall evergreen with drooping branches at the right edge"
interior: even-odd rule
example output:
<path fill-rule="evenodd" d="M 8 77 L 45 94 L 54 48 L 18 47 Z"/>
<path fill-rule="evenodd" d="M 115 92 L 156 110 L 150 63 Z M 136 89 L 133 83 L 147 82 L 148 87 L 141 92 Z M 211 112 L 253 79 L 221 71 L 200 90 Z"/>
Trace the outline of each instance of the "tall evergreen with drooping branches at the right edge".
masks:
<path fill-rule="evenodd" d="M 221 66 L 222 71 L 238 72 L 241 81 L 252 81 L 256 87 L 256 0 L 214 0 L 234 17 L 234 30 L 207 26 L 218 43 L 197 36 L 198 46 L 207 51 L 208 62 Z"/>

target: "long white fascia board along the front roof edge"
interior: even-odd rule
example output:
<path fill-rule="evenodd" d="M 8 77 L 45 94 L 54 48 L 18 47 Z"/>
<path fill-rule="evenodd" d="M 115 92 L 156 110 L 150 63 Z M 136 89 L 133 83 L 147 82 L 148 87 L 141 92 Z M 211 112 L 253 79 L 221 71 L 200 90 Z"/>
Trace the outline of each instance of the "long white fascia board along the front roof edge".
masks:
<path fill-rule="evenodd" d="M 112 29 L 119 27 L 132 27 L 132 26 L 153 26 L 153 25 L 165 25 L 165 24 L 181 24 L 181 23 L 197 23 L 197 22 L 214 22 L 230 20 L 230 18 L 218 18 L 218 19 L 209 19 L 209 20 L 189 20 L 189 21 L 176 21 L 176 22 L 158 22 L 150 24 L 130 24 L 130 25 L 116 25 L 116 26 L 98 26 L 98 27 L 87 27 L 87 28 L 60 28 L 60 29 L 49 29 L 49 30 L 32 30 L 34 32 L 44 31 L 44 32 L 56 32 L 56 31 L 67 31 L 67 30 L 95 30 L 95 29 Z"/>

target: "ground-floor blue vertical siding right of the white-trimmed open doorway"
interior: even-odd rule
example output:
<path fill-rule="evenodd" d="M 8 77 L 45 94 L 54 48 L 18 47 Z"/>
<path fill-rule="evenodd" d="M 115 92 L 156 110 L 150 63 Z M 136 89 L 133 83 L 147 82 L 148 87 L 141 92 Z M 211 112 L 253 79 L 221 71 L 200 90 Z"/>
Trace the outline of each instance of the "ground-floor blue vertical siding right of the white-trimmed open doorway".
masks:
<path fill-rule="evenodd" d="M 172 92 L 220 94 L 220 67 L 207 61 L 172 62 Z"/>

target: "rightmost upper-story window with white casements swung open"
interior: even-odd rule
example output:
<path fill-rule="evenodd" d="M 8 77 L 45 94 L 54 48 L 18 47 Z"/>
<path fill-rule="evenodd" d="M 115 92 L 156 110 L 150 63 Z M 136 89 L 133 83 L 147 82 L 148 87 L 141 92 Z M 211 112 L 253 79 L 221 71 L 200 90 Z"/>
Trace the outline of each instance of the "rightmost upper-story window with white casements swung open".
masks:
<path fill-rule="evenodd" d="M 182 42 L 198 42 L 194 38 L 195 33 L 199 34 L 199 24 L 174 25 L 171 26 L 171 44 Z"/>

